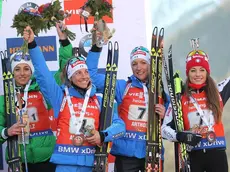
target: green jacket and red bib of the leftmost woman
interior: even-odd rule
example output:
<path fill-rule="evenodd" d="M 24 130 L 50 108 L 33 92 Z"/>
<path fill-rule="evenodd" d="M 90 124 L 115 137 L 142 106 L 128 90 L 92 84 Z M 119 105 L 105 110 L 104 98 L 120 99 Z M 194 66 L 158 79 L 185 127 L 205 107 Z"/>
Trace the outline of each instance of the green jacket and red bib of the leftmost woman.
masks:
<path fill-rule="evenodd" d="M 21 92 L 21 96 L 24 93 Z M 29 116 L 29 126 L 30 126 L 30 136 L 29 144 L 26 144 L 26 155 L 27 162 L 30 164 L 46 162 L 51 157 L 53 148 L 55 145 L 55 136 L 50 129 L 50 121 L 48 116 L 48 107 L 46 101 L 44 100 L 39 87 L 35 81 L 32 79 L 30 87 L 28 89 L 27 97 L 27 115 Z M 4 115 L 4 96 L 1 96 L 1 126 L 5 125 L 5 115 Z M 17 109 L 18 112 L 18 109 Z M 3 128 L 3 127 L 2 127 Z M 5 141 L 1 138 L 1 141 Z M 22 162 L 24 162 L 24 148 L 20 145 L 20 155 Z M 48 162 L 47 162 L 48 163 Z"/>

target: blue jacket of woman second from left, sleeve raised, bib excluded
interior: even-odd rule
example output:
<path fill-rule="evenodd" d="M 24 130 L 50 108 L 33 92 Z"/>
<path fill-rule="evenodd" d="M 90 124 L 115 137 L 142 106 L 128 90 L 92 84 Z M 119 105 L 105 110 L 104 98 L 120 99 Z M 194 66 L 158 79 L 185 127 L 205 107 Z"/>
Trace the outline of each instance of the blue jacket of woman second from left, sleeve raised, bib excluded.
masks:
<path fill-rule="evenodd" d="M 29 54 L 31 55 L 32 63 L 35 68 L 35 77 L 37 83 L 40 86 L 41 92 L 44 97 L 51 103 L 55 117 L 58 117 L 61 104 L 64 97 L 64 86 L 59 86 L 55 79 L 52 76 L 52 73 L 49 71 L 44 56 L 40 51 L 39 47 L 29 49 Z M 69 88 L 70 96 L 84 98 L 79 92 L 76 91 L 73 87 Z M 93 86 L 91 95 L 93 96 L 96 93 L 96 87 Z M 100 101 L 100 100 L 99 100 Z M 116 107 L 116 106 L 115 106 Z M 116 108 L 115 108 L 116 110 Z M 125 133 L 125 124 L 118 117 L 117 111 L 113 113 L 112 125 L 108 127 L 105 131 L 107 136 L 105 137 L 105 142 L 113 141 L 119 137 L 122 137 Z M 79 165 L 79 166 L 93 166 L 94 155 L 56 155 L 53 154 L 52 159 L 55 160 L 57 164 L 65 165 Z"/>

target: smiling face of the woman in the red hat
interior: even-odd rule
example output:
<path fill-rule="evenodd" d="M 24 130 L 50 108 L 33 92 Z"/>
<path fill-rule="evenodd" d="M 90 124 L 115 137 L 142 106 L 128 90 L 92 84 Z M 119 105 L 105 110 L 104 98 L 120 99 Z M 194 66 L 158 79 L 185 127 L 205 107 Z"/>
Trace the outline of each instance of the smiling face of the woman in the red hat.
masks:
<path fill-rule="evenodd" d="M 189 70 L 188 78 L 192 84 L 204 84 L 207 79 L 207 71 L 202 66 L 194 66 Z"/>

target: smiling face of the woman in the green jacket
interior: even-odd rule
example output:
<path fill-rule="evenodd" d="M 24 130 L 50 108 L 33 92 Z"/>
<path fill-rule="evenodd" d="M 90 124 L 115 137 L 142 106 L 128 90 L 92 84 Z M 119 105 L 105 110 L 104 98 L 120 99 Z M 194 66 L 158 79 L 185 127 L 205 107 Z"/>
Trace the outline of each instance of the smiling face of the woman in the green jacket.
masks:
<path fill-rule="evenodd" d="M 14 79 L 17 86 L 25 86 L 32 75 L 31 68 L 26 63 L 21 63 L 14 68 Z"/>

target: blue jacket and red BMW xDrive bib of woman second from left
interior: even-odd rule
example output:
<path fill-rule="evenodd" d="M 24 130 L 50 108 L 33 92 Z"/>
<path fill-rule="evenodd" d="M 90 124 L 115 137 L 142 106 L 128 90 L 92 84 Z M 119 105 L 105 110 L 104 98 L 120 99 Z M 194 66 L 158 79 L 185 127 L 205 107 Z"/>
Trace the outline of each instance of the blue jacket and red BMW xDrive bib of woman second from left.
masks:
<path fill-rule="evenodd" d="M 90 145 L 86 141 L 84 141 L 81 146 L 73 144 L 75 124 L 72 119 L 79 117 L 85 95 L 74 86 L 67 88 L 66 85 L 60 87 L 56 84 L 46 66 L 43 54 L 39 48 L 36 47 L 36 44 L 31 44 L 29 52 L 36 69 L 37 81 L 41 87 L 41 91 L 51 103 L 54 116 L 58 118 L 57 142 L 51 157 L 51 162 L 57 164 L 57 172 L 68 170 L 71 172 L 92 171 L 95 146 Z M 93 128 L 97 130 L 99 127 L 101 99 L 96 97 L 95 93 L 96 87 L 92 85 L 89 93 L 89 101 L 85 109 L 84 125 L 93 126 Z M 71 101 L 75 115 L 71 112 L 68 98 Z M 125 132 L 124 123 L 116 112 L 113 114 L 112 125 L 102 132 L 105 136 L 104 142 L 113 141 L 123 136 Z"/>

